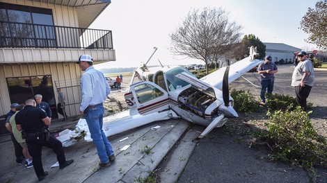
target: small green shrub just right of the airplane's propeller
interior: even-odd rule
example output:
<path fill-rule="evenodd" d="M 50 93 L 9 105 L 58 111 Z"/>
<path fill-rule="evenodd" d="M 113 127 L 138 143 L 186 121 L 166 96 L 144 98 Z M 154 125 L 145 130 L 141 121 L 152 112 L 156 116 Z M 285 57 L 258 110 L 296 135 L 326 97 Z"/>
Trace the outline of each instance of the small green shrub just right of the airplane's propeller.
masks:
<path fill-rule="evenodd" d="M 255 112 L 259 110 L 259 101 L 256 101 L 250 92 L 232 89 L 230 96 L 234 99 L 234 110 L 237 112 Z"/>

